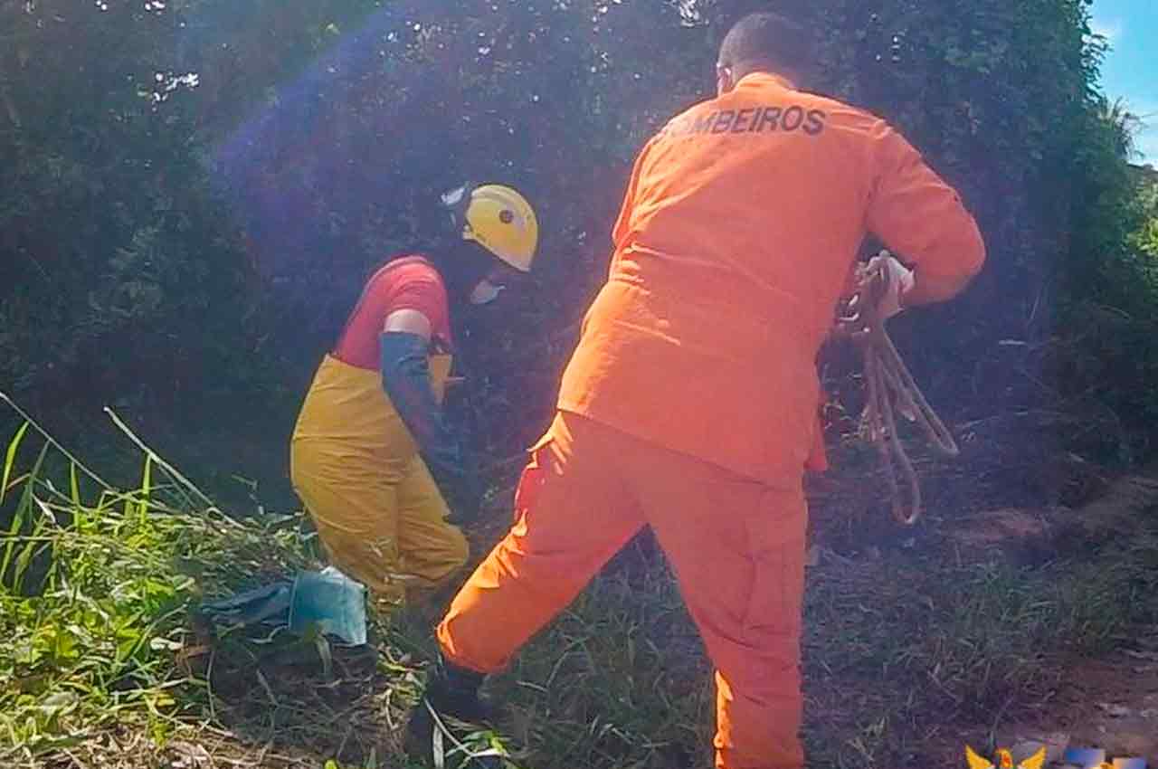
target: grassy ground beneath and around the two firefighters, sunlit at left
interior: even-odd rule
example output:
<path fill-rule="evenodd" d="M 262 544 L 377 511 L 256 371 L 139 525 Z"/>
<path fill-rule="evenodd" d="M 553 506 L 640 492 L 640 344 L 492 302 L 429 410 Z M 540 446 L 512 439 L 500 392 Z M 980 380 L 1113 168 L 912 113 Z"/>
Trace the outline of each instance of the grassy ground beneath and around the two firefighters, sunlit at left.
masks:
<path fill-rule="evenodd" d="M 139 485 L 116 490 L 35 424 L 8 442 L 0 757 L 98 761 L 111 755 L 109 735 L 129 731 L 145 740 L 141 755 L 199 745 L 252 761 L 272 745 L 291 766 L 404 761 L 401 725 L 432 652 L 425 621 L 375 617 L 365 653 L 321 636 L 205 628 L 193 611 L 203 598 L 316 565 L 316 552 L 299 518 L 235 520 L 142 452 Z M 1158 532 L 1139 522 L 1122 542 L 1036 567 L 822 549 L 806 607 L 814 766 L 923 755 L 946 725 L 1033 708 L 1070 660 L 1158 622 L 1146 600 L 1158 587 Z M 645 541 L 489 690 L 511 704 L 510 720 L 501 737 L 475 734 L 472 749 L 499 740 L 518 766 L 710 760 L 710 667 Z"/>

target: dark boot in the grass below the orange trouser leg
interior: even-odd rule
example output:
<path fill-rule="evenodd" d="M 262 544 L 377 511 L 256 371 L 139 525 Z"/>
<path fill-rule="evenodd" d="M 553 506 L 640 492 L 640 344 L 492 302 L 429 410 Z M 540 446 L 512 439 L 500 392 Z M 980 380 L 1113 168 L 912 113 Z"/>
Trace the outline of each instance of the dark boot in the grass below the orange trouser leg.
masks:
<path fill-rule="evenodd" d="M 428 767 L 434 767 L 434 713 L 438 713 L 442 727 L 450 727 L 447 718 L 479 726 L 493 726 L 497 720 L 496 709 L 478 696 L 478 689 L 486 676 L 475 671 L 459 667 L 439 656 L 438 664 L 426 684 L 423 698 L 410 715 L 406 734 L 406 753 L 422 760 Z M 454 741 L 444 739 L 445 752 L 454 749 Z M 501 769 L 505 764 L 498 756 L 481 756 L 463 760 L 461 753 L 455 753 L 446 760 L 446 767 L 461 769 Z"/>

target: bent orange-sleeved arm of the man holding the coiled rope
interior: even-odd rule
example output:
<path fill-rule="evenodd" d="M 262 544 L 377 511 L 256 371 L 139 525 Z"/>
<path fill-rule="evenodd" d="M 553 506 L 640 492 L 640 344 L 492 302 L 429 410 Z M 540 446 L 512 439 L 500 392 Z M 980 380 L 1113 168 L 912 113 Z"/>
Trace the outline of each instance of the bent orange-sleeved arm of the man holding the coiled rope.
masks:
<path fill-rule="evenodd" d="M 985 262 L 985 246 L 960 196 L 887 124 L 875 131 L 868 229 L 913 269 L 902 307 L 952 299 Z"/>

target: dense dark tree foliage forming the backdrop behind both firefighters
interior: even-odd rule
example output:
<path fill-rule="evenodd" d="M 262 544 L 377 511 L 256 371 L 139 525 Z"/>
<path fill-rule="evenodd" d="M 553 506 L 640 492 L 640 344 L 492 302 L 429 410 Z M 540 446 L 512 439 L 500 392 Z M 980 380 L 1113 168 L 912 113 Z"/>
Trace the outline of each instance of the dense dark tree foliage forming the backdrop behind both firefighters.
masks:
<path fill-rule="evenodd" d="M 933 402 L 1158 416 L 1137 378 L 1158 368 L 1153 192 L 1095 89 L 1084 0 L 5 3 L 0 386 L 284 432 L 368 270 L 437 239 L 437 192 L 500 180 L 540 211 L 541 266 L 459 320 L 478 440 L 518 448 L 635 151 L 761 7 L 814 22 L 819 88 L 894 120 L 982 224 L 975 288 L 896 324 Z M 1069 344 L 1094 316 L 1128 344 Z"/>

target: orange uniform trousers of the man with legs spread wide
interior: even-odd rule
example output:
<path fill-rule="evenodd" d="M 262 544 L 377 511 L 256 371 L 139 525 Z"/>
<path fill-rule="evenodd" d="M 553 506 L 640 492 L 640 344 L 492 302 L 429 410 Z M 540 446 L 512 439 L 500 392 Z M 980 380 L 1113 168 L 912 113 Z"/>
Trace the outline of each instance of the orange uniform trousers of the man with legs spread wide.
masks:
<path fill-rule="evenodd" d="M 807 506 L 770 485 L 570 412 L 532 449 L 515 522 L 438 628 L 481 673 L 511 656 L 650 525 L 716 667 L 716 766 L 799 769 Z"/>

